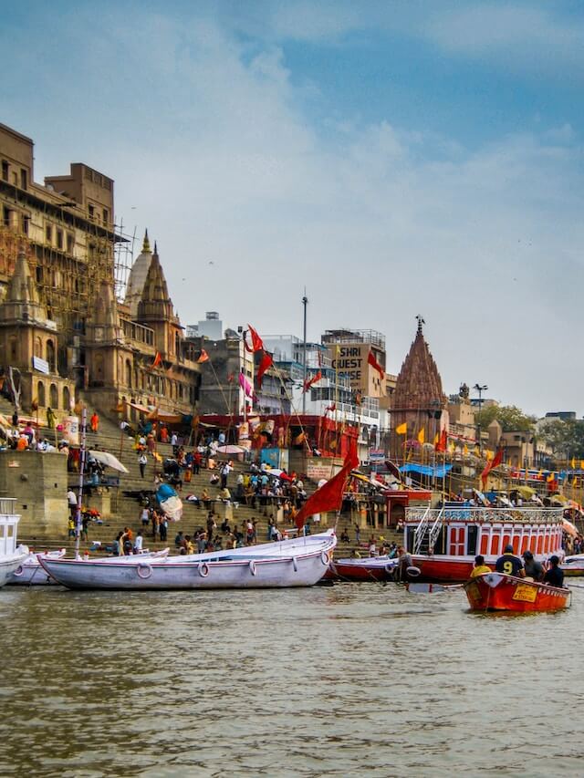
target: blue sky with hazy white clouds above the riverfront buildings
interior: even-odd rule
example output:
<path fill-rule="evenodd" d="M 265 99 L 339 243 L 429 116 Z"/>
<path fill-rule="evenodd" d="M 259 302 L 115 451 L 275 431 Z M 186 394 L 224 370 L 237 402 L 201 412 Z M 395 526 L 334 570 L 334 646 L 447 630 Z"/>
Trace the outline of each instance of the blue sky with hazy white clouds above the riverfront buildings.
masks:
<path fill-rule="evenodd" d="M 584 414 L 584 5 L 24 2 L 0 121 L 158 243 L 183 324 L 383 333 L 446 393 Z"/>

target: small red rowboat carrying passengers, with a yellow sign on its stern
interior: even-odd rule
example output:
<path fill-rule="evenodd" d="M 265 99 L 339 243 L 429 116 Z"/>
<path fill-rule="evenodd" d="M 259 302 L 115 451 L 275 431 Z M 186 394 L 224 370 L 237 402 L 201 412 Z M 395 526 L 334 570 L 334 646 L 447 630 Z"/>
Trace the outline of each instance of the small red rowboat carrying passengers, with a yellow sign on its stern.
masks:
<path fill-rule="evenodd" d="M 471 610 L 549 612 L 569 606 L 571 592 L 504 573 L 485 573 L 464 584 Z"/>

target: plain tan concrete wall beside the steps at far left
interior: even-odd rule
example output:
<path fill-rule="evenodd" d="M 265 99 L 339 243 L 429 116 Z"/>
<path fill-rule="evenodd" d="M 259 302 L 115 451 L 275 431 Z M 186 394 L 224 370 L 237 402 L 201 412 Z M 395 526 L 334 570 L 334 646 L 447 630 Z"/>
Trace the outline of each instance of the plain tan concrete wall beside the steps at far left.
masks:
<path fill-rule="evenodd" d="M 67 457 L 40 451 L 0 451 L 0 496 L 16 497 L 21 537 L 67 537 Z"/>

